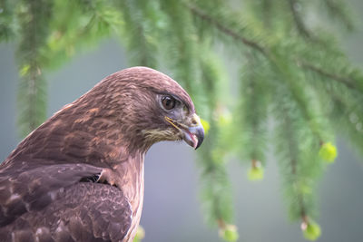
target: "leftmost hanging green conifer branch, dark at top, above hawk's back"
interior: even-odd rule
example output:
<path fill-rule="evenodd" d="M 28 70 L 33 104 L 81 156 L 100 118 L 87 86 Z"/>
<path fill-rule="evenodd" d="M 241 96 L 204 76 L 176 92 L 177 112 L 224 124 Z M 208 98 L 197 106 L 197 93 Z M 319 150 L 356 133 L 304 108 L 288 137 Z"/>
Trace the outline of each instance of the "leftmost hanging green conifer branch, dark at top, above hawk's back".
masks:
<path fill-rule="evenodd" d="M 51 15 L 52 5 L 44 0 L 24 1 L 23 4 L 24 12 L 19 14 L 23 21 L 20 23 L 22 35 L 17 60 L 22 76 L 18 93 L 18 122 L 25 136 L 45 119 L 46 82 L 42 77 L 42 67 L 46 61 L 41 48 L 48 32 L 48 25 L 43 23 Z"/>

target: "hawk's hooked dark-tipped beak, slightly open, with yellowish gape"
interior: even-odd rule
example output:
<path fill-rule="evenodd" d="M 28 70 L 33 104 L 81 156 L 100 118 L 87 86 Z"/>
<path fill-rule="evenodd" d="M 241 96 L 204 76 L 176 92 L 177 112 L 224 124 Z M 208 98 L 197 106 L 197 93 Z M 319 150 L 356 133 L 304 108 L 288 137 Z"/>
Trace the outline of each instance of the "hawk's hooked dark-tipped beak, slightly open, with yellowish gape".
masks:
<path fill-rule="evenodd" d="M 204 129 L 201 125 L 201 119 L 194 114 L 190 125 L 182 124 L 165 116 L 165 120 L 170 122 L 174 128 L 182 132 L 182 140 L 197 150 L 204 140 Z"/>

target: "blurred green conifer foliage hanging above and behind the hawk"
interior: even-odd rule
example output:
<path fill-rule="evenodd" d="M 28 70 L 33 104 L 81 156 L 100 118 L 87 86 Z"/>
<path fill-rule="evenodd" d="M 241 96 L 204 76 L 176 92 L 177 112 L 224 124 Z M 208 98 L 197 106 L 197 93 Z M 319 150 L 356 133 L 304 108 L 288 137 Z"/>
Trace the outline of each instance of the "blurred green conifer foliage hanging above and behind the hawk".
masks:
<path fill-rule="evenodd" d="M 44 121 L 43 71 L 116 36 L 132 64 L 166 68 L 209 127 L 198 160 L 201 203 L 227 241 L 238 238 L 229 155 L 262 179 L 273 146 L 289 216 L 316 239 L 315 187 L 323 160 L 337 156 L 334 137 L 362 151 L 363 75 L 324 27 L 331 20 L 354 30 L 343 0 L 0 0 L 0 40 L 17 44 L 22 134 Z M 224 71 L 231 66 L 236 80 Z"/>

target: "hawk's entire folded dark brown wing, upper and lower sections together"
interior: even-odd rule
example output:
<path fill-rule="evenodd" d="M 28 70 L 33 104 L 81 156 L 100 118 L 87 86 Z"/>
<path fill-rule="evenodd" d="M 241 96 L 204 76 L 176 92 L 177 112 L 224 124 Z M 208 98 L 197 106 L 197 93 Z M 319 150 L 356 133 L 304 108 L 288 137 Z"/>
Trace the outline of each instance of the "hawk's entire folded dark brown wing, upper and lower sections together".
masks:
<path fill-rule="evenodd" d="M 119 241 L 127 234 L 132 210 L 123 191 L 82 182 L 97 180 L 103 168 L 19 164 L 0 171 L 0 241 Z"/>

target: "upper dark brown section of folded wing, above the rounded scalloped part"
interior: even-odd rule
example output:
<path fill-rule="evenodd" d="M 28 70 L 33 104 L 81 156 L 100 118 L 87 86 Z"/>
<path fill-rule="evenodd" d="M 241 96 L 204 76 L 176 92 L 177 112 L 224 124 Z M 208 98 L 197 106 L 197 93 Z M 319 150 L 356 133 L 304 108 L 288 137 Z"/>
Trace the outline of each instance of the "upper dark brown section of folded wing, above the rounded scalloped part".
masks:
<path fill-rule="evenodd" d="M 0 173 L 0 227 L 25 212 L 45 208 L 57 198 L 59 189 L 102 172 L 101 168 L 85 164 L 42 166 L 35 163 L 23 170 L 17 167 L 19 163 L 9 164 Z"/>

